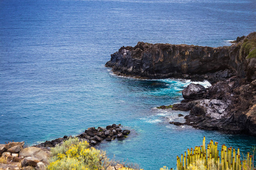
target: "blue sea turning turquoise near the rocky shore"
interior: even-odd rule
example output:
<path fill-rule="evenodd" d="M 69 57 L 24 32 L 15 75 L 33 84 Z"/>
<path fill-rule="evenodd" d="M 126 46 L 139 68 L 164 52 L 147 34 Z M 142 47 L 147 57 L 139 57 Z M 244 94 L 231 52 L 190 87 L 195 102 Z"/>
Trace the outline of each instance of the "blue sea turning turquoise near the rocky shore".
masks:
<path fill-rule="evenodd" d="M 254 137 L 168 123 L 188 112 L 155 107 L 180 102 L 188 80 L 123 78 L 104 65 L 138 41 L 230 45 L 256 31 L 255 11 L 255 0 L 0 0 L 0 143 L 115 123 L 132 133 L 98 147 L 146 170 L 175 167 L 204 136 L 250 151 Z"/>

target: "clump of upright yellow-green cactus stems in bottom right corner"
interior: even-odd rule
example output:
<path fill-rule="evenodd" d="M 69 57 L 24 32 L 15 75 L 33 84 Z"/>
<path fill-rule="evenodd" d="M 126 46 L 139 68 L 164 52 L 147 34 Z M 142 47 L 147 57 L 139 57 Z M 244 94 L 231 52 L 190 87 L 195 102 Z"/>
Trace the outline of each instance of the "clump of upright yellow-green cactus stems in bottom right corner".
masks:
<path fill-rule="evenodd" d="M 236 150 L 232 147 L 227 148 L 222 145 L 219 156 L 218 142 L 210 143 L 205 148 L 205 137 L 203 139 L 203 145 L 201 147 L 196 146 L 195 149 L 187 150 L 184 155 L 181 155 L 181 159 L 177 156 L 177 170 L 193 169 L 200 164 L 200 169 L 217 169 L 217 170 L 253 170 L 253 156 L 249 152 L 246 154 L 246 159 L 240 161 L 240 149 Z M 197 167 L 196 169 L 198 169 Z"/>

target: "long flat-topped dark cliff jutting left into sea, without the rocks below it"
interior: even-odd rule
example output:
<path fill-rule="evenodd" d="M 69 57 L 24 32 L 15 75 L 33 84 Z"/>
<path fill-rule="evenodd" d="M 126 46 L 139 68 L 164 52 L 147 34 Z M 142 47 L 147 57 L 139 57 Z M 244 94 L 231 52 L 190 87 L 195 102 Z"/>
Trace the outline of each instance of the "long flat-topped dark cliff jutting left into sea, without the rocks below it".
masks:
<path fill-rule="evenodd" d="M 255 37 L 254 32 L 245 39 Z M 245 50 L 240 50 L 245 39 L 218 48 L 138 42 L 134 47 L 122 47 L 112 54 L 106 66 L 112 67 L 115 74 L 139 78 L 208 79 L 215 83 L 216 79 L 237 74 L 252 80 L 256 78 L 256 61 L 246 59 Z"/>

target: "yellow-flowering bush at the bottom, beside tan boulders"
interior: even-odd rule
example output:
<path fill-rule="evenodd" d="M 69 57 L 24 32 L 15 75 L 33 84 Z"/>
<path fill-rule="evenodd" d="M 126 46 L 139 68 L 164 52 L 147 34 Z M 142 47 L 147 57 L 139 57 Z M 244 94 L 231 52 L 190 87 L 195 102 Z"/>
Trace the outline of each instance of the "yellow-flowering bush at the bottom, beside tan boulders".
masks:
<path fill-rule="evenodd" d="M 88 142 L 68 139 L 63 145 L 51 149 L 48 169 L 105 169 L 109 160 L 105 152 L 90 147 Z"/>

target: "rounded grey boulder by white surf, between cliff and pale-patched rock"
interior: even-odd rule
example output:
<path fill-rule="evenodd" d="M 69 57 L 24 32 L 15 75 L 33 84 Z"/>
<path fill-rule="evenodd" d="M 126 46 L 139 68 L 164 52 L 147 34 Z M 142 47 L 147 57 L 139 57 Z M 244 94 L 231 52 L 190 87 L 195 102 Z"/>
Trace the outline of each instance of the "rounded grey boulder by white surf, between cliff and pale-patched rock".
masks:
<path fill-rule="evenodd" d="M 206 88 L 201 84 L 191 83 L 188 85 L 188 87 L 184 88 L 182 95 L 184 99 L 196 100 L 202 99 L 206 92 Z"/>

